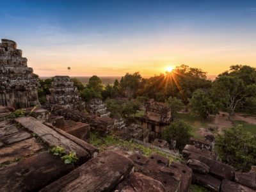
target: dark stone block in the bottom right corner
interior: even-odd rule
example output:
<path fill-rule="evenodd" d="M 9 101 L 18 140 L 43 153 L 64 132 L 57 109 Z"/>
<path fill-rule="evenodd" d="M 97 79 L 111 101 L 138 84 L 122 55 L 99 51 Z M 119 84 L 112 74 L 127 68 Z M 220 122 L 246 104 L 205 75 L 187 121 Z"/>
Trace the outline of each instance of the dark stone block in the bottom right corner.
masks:
<path fill-rule="evenodd" d="M 221 192 L 255 192 L 254 189 L 247 188 L 236 182 L 224 179 L 221 183 Z"/>

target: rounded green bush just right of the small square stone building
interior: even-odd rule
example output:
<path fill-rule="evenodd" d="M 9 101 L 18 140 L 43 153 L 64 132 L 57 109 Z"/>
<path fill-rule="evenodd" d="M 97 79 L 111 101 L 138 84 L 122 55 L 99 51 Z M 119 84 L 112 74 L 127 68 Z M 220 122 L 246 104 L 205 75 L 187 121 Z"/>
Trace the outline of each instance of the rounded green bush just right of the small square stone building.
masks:
<path fill-rule="evenodd" d="M 166 129 L 163 131 L 163 138 L 170 143 L 172 140 L 176 141 L 176 147 L 179 150 L 183 150 L 186 144 L 189 143 L 191 138 L 191 126 L 186 122 L 180 120 L 173 121 Z"/>

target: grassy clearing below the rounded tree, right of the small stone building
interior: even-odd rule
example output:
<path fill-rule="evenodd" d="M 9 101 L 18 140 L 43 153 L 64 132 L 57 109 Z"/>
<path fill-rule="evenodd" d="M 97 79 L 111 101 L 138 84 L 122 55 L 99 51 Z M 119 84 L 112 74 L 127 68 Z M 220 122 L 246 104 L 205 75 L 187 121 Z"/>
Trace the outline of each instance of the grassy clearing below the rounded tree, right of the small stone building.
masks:
<path fill-rule="evenodd" d="M 208 127 L 207 124 L 210 123 L 210 120 L 204 120 L 204 122 L 202 122 L 202 118 L 200 118 L 199 116 L 190 115 L 188 113 L 178 113 L 177 118 L 191 125 L 191 134 L 194 138 L 204 139 L 204 137 L 198 134 L 197 131 L 199 130 L 199 128 Z"/>

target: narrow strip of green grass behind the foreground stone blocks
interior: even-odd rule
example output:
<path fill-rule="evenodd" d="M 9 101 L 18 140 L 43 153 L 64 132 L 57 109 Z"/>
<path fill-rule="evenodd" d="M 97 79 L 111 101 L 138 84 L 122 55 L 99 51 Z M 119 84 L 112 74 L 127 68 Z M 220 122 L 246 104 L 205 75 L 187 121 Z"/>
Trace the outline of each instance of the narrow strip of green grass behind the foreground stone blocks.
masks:
<path fill-rule="evenodd" d="M 155 148 L 148 148 L 144 147 L 143 145 L 140 145 L 138 143 L 135 143 L 134 141 L 124 141 L 120 140 L 119 138 L 116 138 L 113 135 L 108 135 L 106 137 L 100 137 L 97 133 L 91 132 L 91 138 L 90 138 L 90 144 L 99 148 L 100 151 L 106 150 L 106 147 L 108 146 L 118 146 L 118 147 L 125 147 L 127 150 L 131 150 L 132 152 L 140 151 L 141 154 L 148 157 L 151 154 L 159 154 L 161 156 L 167 157 L 170 159 L 170 162 L 172 161 L 180 161 L 179 158 L 173 157 L 169 154 L 165 154 L 164 152 L 161 152 L 161 150 L 157 150 Z"/>

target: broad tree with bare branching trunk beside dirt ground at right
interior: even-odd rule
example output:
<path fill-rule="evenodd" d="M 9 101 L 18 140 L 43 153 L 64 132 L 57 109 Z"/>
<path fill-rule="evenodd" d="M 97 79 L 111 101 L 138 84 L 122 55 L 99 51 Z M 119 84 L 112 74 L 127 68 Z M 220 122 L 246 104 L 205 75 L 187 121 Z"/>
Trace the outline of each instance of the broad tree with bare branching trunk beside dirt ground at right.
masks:
<path fill-rule="evenodd" d="M 246 98 L 256 94 L 256 84 L 244 84 L 237 76 L 219 76 L 212 84 L 214 99 L 223 104 L 229 118 L 237 108 L 243 106 Z"/>

